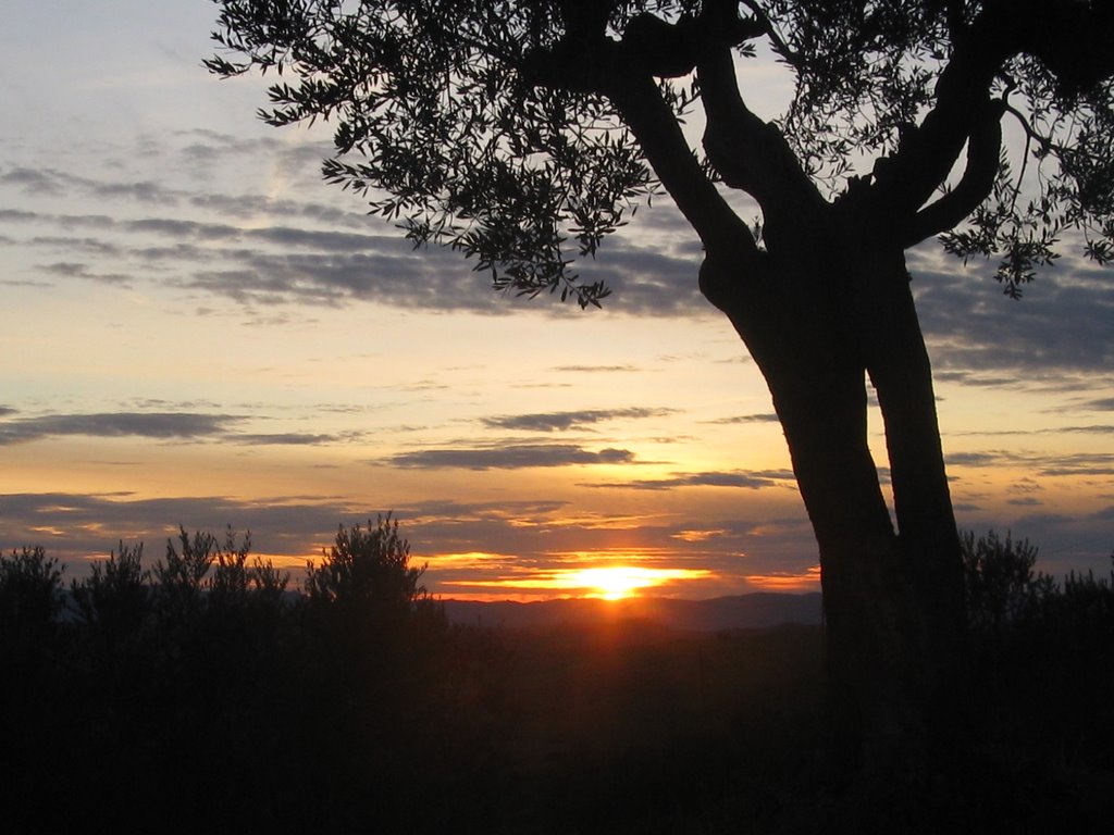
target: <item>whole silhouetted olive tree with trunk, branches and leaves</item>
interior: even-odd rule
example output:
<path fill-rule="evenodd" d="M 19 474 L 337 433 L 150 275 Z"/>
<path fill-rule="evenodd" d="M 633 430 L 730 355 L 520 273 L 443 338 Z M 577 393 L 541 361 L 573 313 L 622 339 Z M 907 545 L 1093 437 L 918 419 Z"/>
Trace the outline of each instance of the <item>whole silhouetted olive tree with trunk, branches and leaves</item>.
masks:
<path fill-rule="evenodd" d="M 577 261 L 664 189 L 785 431 L 820 547 L 839 726 L 900 738 L 948 701 L 962 567 L 905 252 L 941 236 L 997 258 L 1014 296 L 1069 229 L 1094 261 L 1114 257 L 1111 3 L 216 2 L 209 69 L 277 72 L 263 118 L 330 120 L 326 179 L 497 288 L 598 304 L 608 291 Z M 760 46 L 795 79 L 774 121 L 740 73 Z M 682 129 L 695 108 L 696 150 Z M 1025 146 L 1015 165 L 1005 124 Z"/>

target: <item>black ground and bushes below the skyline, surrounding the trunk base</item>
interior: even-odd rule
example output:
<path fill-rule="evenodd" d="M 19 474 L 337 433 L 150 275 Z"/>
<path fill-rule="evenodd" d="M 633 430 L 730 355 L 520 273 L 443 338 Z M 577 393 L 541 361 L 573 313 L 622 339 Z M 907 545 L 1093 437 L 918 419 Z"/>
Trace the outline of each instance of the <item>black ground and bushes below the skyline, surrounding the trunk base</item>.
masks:
<path fill-rule="evenodd" d="M 965 543 L 970 750 L 849 777 L 822 630 L 451 626 L 388 520 L 301 592 L 231 533 L 0 558 L 7 832 L 1106 832 L 1112 578 Z"/>

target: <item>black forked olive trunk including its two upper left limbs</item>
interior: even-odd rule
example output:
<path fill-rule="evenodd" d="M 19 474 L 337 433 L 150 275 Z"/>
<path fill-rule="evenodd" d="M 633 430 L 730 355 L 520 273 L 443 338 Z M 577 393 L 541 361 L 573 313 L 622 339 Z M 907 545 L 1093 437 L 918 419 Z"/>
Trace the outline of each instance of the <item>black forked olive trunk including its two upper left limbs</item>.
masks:
<path fill-rule="evenodd" d="M 701 291 L 727 315 L 773 395 L 820 548 L 838 745 L 852 756 L 864 746 L 908 749 L 947 725 L 940 708 L 961 658 L 964 610 L 905 232 L 851 190 L 837 203 L 822 198 L 776 128 L 743 104 L 723 43 L 711 37 L 695 60 L 704 149 L 727 186 L 759 203 L 765 252 L 690 151 L 644 68 L 620 62 L 606 92 L 700 235 Z M 898 530 L 867 444 L 868 374 L 886 424 Z"/>

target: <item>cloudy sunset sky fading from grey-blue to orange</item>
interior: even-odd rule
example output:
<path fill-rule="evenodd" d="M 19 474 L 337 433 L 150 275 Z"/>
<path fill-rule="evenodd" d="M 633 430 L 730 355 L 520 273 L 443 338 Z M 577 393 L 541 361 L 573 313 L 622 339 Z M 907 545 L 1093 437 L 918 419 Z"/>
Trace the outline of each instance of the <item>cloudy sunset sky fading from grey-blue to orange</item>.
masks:
<path fill-rule="evenodd" d="M 328 129 L 268 128 L 262 82 L 209 77 L 215 16 L 4 2 L 3 551 L 81 576 L 232 525 L 300 567 L 393 511 L 444 597 L 598 592 L 578 572 L 608 566 L 680 597 L 818 587 L 769 393 L 667 203 L 585 271 L 604 311 L 500 296 L 325 186 Z M 784 84 L 745 68 L 760 112 Z M 936 245 L 909 266 L 960 524 L 1105 572 L 1114 274 L 1065 252 L 1017 303 Z"/>

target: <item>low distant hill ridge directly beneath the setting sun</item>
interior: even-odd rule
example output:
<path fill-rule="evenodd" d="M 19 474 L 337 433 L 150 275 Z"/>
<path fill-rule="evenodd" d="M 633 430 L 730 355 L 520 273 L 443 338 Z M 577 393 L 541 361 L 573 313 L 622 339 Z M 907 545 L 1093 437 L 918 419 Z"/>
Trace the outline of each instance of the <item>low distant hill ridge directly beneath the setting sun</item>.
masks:
<path fill-rule="evenodd" d="M 649 620 L 670 629 L 719 631 L 762 629 L 799 623 L 815 626 L 821 620 L 818 592 L 786 595 L 754 592 L 710 600 L 676 598 L 563 598 L 519 603 L 509 600 L 479 602 L 442 600 L 453 623 L 508 628 L 595 623 L 614 620 Z"/>

